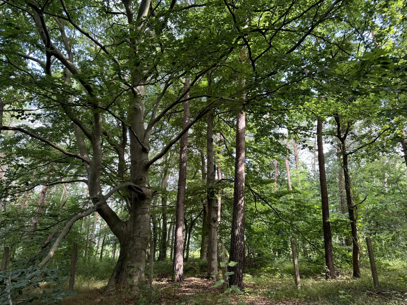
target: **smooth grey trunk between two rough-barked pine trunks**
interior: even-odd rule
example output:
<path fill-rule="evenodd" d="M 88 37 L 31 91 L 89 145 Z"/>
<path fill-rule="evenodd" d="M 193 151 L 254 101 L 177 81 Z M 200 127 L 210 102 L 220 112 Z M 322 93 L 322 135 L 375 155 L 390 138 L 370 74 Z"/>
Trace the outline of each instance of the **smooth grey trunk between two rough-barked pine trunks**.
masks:
<path fill-rule="evenodd" d="M 208 114 L 206 126 L 206 192 L 208 200 L 208 279 L 218 278 L 218 205 L 213 184 L 215 182 L 214 151 L 213 151 L 213 119 Z"/>

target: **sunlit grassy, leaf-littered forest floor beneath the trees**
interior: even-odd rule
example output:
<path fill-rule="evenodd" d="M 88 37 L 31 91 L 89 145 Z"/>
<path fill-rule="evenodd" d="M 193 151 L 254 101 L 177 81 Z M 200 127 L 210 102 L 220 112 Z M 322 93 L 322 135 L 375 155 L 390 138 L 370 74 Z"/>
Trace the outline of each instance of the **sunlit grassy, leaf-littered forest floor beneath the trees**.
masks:
<path fill-rule="evenodd" d="M 362 269 L 362 277 L 354 279 L 350 271 L 342 271 L 338 280 L 325 280 L 323 273 L 304 274 L 302 289 L 295 289 L 293 277 L 284 267 L 262 268 L 261 273 L 245 276 L 242 295 L 225 296 L 214 281 L 189 275 L 182 284 L 162 277 L 153 282 L 153 289 L 144 290 L 140 297 L 113 292 L 105 294 L 106 281 L 79 277 L 77 294 L 66 298 L 64 305 L 214 305 L 219 298 L 230 297 L 228 304 L 243 301 L 247 305 L 407 305 L 407 270 L 405 264 L 383 266 L 379 271 L 381 286 L 373 288 L 370 270 Z M 287 270 L 288 271 L 288 270 Z M 221 303 L 226 304 L 226 303 Z"/>

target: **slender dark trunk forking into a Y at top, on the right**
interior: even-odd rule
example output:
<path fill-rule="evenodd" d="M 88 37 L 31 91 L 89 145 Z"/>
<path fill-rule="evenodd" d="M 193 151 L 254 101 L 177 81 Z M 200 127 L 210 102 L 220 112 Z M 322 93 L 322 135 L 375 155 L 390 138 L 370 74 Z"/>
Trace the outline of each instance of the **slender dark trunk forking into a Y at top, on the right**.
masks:
<path fill-rule="evenodd" d="M 346 192 L 346 205 L 348 206 L 350 229 L 352 234 L 352 263 L 353 263 L 353 276 L 360 277 L 360 266 L 359 266 L 359 242 L 357 235 L 357 207 L 353 203 L 351 184 L 349 176 L 349 165 L 348 165 L 348 153 L 346 149 L 346 137 L 350 131 L 350 122 L 347 123 L 346 131 L 342 135 L 341 132 L 341 121 L 339 115 L 335 115 L 335 121 L 337 122 L 337 138 L 341 142 L 341 155 L 342 155 L 342 168 L 344 170 L 344 180 L 345 180 L 345 192 Z"/>

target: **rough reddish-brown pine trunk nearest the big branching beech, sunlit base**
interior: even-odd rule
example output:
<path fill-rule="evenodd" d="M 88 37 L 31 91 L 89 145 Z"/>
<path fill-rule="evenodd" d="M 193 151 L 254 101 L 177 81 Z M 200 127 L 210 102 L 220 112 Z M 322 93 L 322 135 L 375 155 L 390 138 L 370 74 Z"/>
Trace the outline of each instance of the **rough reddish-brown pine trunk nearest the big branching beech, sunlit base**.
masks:
<path fill-rule="evenodd" d="M 189 78 L 185 78 L 184 88 L 189 87 Z M 189 98 L 189 93 L 185 95 L 185 99 Z M 182 127 L 186 128 L 189 124 L 189 100 L 184 102 L 184 119 Z M 178 176 L 178 192 L 177 192 L 177 211 L 175 216 L 175 245 L 174 245 L 174 263 L 173 277 L 175 281 L 182 283 L 184 281 L 184 208 L 185 208 L 185 187 L 186 187 L 186 151 L 188 145 L 188 133 L 186 132 L 179 142 L 179 176 Z"/>

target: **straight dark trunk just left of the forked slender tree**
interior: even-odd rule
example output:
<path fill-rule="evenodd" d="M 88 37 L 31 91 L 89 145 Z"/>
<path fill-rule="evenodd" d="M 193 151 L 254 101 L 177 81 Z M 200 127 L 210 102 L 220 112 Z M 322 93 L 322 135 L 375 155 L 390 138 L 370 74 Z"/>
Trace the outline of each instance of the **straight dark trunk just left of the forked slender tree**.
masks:
<path fill-rule="evenodd" d="M 322 141 L 322 120 L 319 116 L 317 117 L 317 146 L 319 183 L 321 185 L 322 227 L 324 229 L 326 278 L 334 279 L 335 267 L 333 264 L 332 236 L 329 222 L 328 188 L 326 186 L 324 142 Z"/>

